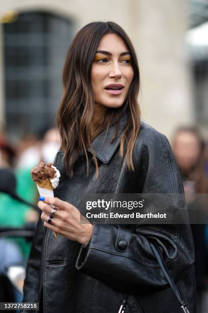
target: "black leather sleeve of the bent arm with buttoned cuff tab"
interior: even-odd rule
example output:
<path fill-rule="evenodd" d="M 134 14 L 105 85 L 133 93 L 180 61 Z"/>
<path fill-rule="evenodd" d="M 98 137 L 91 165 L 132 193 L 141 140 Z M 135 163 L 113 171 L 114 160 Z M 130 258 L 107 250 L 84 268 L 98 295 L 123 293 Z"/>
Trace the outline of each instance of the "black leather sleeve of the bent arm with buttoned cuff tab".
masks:
<path fill-rule="evenodd" d="M 177 198 L 184 189 L 168 139 L 150 126 L 142 135 L 134 150 L 138 193 L 173 193 Z M 94 223 L 88 247 L 82 246 L 77 257 L 76 269 L 121 292 L 165 289 L 168 284 L 151 251 L 150 237 L 157 241 L 173 280 L 181 279 L 194 262 L 189 224 L 130 227 Z"/>

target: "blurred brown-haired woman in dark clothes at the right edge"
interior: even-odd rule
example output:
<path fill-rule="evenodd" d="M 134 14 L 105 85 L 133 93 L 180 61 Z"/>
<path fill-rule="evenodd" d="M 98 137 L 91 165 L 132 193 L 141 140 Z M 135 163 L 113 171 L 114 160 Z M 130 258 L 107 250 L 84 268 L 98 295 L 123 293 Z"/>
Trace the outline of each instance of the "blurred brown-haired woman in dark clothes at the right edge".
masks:
<path fill-rule="evenodd" d="M 173 153 L 177 161 L 187 198 L 187 206 L 201 212 L 207 211 L 207 203 L 200 203 L 196 194 L 208 193 L 208 180 L 205 175 L 204 141 L 196 127 L 181 126 L 173 137 Z M 201 200 L 204 198 L 201 198 Z M 197 288 L 197 312 L 207 311 L 207 301 L 203 301 L 207 290 L 208 256 L 206 252 L 206 224 L 191 225 L 195 246 L 195 276 Z M 206 309 L 203 306 L 206 305 Z"/>

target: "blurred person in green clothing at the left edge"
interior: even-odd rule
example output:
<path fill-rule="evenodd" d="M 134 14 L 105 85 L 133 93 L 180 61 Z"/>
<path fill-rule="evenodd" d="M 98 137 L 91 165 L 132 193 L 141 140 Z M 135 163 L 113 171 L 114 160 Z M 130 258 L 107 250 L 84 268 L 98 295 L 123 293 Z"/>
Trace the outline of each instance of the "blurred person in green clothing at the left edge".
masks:
<path fill-rule="evenodd" d="M 15 157 L 14 148 L 0 137 L 0 168 L 13 166 Z M 23 199 L 35 203 L 37 197 L 36 185 L 31 180 L 28 169 L 16 169 L 16 193 Z M 38 213 L 27 205 L 13 199 L 10 195 L 0 192 L 0 227 L 21 228 L 27 221 L 36 221 Z M 21 237 L 10 237 L 8 240 L 17 244 L 22 257 L 27 261 L 31 249 L 31 242 Z"/>

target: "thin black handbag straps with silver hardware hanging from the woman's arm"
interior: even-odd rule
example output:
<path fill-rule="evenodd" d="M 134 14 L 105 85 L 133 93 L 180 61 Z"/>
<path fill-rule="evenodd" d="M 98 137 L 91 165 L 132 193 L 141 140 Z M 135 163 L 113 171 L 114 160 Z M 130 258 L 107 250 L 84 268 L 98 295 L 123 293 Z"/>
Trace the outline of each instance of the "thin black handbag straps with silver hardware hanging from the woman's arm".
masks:
<path fill-rule="evenodd" d="M 152 249 L 152 252 L 154 253 L 155 258 L 158 260 L 158 263 L 161 266 L 161 269 L 163 271 L 165 278 L 167 279 L 167 282 L 169 283 L 170 287 L 172 288 L 173 293 L 175 294 L 175 297 L 177 298 L 177 300 L 180 304 L 181 309 L 183 309 L 184 313 L 189 313 L 189 310 L 188 310 L 186 304 L 184 303 L 183 299 L 181 298 L 181 296 L 178 293 L 178 290 L 177 290 L 177 288 L 173 282 L 173 279 L 172 279 L 170 272 L 167 268 L 167 265 L 163 259 L 161 251 L 158 248 L 158 245 L 153 241 L 152 242 L 149 241 L 149 244 L 150 244 L 150 247 Z M 127 299 L 128 299 L 128 295 L 125 294 L 118 313 L 124 313 L 125 312 Z"/>

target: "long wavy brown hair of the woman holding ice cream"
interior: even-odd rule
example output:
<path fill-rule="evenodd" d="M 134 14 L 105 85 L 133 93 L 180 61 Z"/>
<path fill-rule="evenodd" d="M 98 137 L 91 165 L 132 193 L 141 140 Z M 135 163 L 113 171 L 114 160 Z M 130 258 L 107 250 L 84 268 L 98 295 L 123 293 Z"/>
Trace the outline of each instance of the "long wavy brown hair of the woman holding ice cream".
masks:
<path fill-rule="evenodd" d="M 115 125 L 115 140 L 119 120 L 124 111 L 127 112 L 127 123 L 123 130 L 120 143 L 120 156 L 124 156 L 128 170 L 134 170 L 133 148 L 140 129 L 140 108 L 137 101 L 140 86 L 139 66 L 133 44 L 124 30 L 112 21 L 97 21 L 84 26 L 74 36 L 66 55 L 63 70 L 63 97 L 58 109 L 57 122 L 61 134 L 62 147 L 64 151 L 64 165 L 66 173 L 73 175 L 73 164 L 78 158 L 78 153 L 85 152 L 87 161 L 87 173 L 89 171 L 87 148 L 92 151 L 98 174 L 98 164 L 91 145 L 90 128 L 94 113 L 94 96 L 91 87 L 91 66 L 103 35 L 115 33 L 119 35 L 132 56 L 134 77 L 129 87 L 127 99 L 119 108 L 108 108 L 105 118 L 96 133 L 107 130 Z"/>

